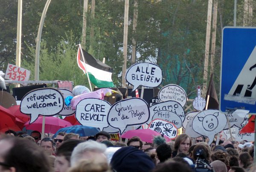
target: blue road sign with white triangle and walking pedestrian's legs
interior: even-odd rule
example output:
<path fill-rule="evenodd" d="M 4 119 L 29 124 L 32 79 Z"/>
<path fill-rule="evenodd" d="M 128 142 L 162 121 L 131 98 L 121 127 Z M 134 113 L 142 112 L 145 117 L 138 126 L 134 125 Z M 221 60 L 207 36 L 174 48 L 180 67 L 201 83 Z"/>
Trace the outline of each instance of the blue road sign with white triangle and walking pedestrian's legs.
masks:
<path fill-rule="evenodd" d="M 225 27 L 222 32 L 220 107 L 256 114 L 256 28 Z"/>

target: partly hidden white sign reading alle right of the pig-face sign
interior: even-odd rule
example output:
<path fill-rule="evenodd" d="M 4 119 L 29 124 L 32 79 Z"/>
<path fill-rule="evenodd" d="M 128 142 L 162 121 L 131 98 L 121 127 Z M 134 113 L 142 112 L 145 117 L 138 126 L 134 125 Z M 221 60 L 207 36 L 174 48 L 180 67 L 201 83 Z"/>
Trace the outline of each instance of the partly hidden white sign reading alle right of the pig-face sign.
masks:
<path fill-rule="evenodd" d="M 243 109 L 237 109 L 235 112 L 233 113 L 229 113 L 229 112 L 226 112 L 225 115 L 227 117 L 227 120 L 229 121 L 230 123 L 230 128 L 232 126 L 237 126 L 239 128 L 243 128 L 241 126 L 241 124 L 244 122 L 245 120 L 245 117 L 246 115 L 249 113 L 248 110 L 243 110 Z M 227 125 L 225 126 L 224 129 L 228 129 L 228 123 Z"/>

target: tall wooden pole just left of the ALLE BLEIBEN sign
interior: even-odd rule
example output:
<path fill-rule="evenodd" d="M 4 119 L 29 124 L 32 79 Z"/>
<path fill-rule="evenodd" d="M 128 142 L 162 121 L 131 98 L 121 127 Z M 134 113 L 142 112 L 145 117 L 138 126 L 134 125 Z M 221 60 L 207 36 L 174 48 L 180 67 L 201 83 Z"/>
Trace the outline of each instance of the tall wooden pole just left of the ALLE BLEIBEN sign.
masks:
<path fill-rule="evenodd" d="M 125 20 L 124 20 L 124 40 L 123 40 L 123 55 L 124 62 L 122 66 L 122 87 L 126 87 L 125 73 L 127 60 L 127 39 L 128 39 L 128 14 L 129 14 L 129 0 L 125 0 Z"/>

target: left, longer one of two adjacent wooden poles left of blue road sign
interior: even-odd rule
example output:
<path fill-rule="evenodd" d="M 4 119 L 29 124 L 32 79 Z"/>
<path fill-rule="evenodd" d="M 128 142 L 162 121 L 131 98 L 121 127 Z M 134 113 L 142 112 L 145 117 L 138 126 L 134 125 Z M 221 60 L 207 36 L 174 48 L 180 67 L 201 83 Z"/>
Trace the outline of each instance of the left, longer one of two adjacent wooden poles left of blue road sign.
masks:
<path fill-rule="evenodd" d="M 202 95 L 205 95 L 207 90 L 211 21 L 212 21 L 212 0 L 208 0 L 207 28 L 206 28 L 205 53 L 204 53 L 204 83 L 203 83 Z"/>

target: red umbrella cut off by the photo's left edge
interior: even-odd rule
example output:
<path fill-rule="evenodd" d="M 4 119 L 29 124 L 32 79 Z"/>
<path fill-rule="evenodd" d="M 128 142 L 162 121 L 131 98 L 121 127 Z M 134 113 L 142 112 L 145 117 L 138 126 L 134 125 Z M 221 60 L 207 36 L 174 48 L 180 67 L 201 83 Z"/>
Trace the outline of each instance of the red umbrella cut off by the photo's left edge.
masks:
<path fill-rule="evenodd" d="M 0 106 L 0 132 L 6 132 L 12 129 L 14 131 L 21 131 L 15 123 L 15 117 L 11 114 L 9 109 Z"/>

